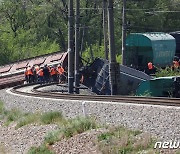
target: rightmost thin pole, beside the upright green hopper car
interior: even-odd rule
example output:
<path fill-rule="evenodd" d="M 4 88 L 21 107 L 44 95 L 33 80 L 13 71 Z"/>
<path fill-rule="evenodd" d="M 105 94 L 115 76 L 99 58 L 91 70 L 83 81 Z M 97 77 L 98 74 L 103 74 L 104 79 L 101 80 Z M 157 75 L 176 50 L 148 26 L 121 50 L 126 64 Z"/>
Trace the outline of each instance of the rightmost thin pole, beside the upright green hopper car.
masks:
<path fill-rule="evenodd" d="M 122 8 L 122 64 L 126 65 L 126 0 Z"/>

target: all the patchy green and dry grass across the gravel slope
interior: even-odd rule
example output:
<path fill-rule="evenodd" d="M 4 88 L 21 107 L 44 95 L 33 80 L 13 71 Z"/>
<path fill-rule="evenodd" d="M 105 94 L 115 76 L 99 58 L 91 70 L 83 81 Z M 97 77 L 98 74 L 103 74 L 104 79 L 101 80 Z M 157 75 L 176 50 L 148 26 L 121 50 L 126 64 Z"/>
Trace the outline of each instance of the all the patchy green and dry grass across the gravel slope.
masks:
<path fill-rule="evenodd" d="M 36 123 L 39 125 L 56 124 L 59 129 L 49 132 L 40 147 L 32 147 L 29 154 L 53 154 L 51 146 L 62 140 L 83 133 L 87 130 L 105 128 L 107 131 L 97 136 L 96 145 L 103 154 L 159 153 L 153 149 L 155 140 L 141 131 L 128 130 L 124 127 L 99 125 L 92 118 L 65 119 L 59 112 L 22 113 L 16 109 L 7 111 L 0 102 L 0 120 L 9 125 L 16 123 L 16 129 Z"/>

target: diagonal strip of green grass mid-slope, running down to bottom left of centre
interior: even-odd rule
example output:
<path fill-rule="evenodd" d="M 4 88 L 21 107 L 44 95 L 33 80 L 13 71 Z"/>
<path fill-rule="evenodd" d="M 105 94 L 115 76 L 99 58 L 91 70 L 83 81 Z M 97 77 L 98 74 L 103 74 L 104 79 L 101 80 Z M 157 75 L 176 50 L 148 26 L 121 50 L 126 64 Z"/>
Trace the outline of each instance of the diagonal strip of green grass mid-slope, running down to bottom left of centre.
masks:
<path fill-rule="evenodd" d="M 47 115 L 49 115 L 49 116 L 47 116 Z M 57 115 L 57 114 L 54 114 L 54 115 Z M 47 119 L 49 119 L 49 117 L 52 117 L 52 114 L 46 114 L 46 116 L 48 117 Z M 46 116 L 43 116 L 43 117 L 46 117 Z M 58 117 L 59 117 L 59 115 L 58 115 Z M 63 118 L 63 117 L 61 117 L 61 118 Z M 53 119 L 56 119 L 56 118 L 53 118 Z M 51 120 L 51 122 L 54 122 L 54 120 Z M 58 142 L 63 138 L 70 138 L 76 134 L 83 133 L 87 130 L 97 128 L 97 124 L 91 118 L 78 117 L 78 118 L 70 119 L 70 120 L 64 119 L 61 122 L 62 122 L 61 123 L 62 128 L 52 131 L 52 132 L 49 132 L 44 138 L 43 145 L 41 145 L 40 147 L 37 147 L 37 148 L 32 147 L 29 150 L 28 154 L 42 154 L 42 153 L 49 154 L 49 149 L 47 147 L 54 144 L 55 142 Z M 60 125 L 60 123 L 58 123 L 58 124 Z"/>

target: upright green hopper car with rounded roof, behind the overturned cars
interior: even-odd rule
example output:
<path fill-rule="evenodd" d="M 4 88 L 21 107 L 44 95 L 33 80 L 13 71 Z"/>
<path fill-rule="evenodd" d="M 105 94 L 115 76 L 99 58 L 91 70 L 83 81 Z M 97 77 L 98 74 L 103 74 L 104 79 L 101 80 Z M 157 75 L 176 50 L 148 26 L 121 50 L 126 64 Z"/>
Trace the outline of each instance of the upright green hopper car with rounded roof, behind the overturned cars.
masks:
<path fill-rule="evenodd" d="M 157 67 L 171 65 L 175 56 L 175 38 L 167 33 L 132 33 L 126 39 L 126 65 L 146 70 L 148 62 Z"/>

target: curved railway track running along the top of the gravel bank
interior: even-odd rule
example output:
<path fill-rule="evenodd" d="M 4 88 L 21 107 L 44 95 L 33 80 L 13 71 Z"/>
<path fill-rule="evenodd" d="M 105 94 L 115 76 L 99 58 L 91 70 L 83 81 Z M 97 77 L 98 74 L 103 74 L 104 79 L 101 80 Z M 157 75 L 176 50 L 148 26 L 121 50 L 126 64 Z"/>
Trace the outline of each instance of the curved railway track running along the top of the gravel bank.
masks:
<path fill-rule="evenodd" d="M 51 84 L 47 84 L 48 86 Z M 56 92 L 42 92 L 38 90 L 47 85 L 21 85 L 11 89 L 11 92 L 26 96 L 45 97 L 53 99 L 69 99 L 69 100 L 84 100 L 84 101 L 103 101 L 103 102 L 120 102 L 120 103 L 134 103 L 134 104 L 149 104 L 149 105 L 163 105 L 163 106 L 180 106 L 179 98 L 167 97 L 136 97 L 136 96 L 107 96 L 107 95 L 81 95 L 81 94 L 64 94 Z M 31 92 L 24 92 L 23 87 L 32 87 Z M 21 89 L 21 90 L 20 90 Z"/>

